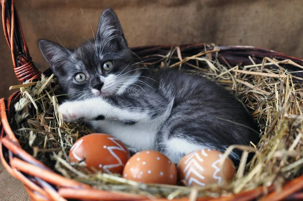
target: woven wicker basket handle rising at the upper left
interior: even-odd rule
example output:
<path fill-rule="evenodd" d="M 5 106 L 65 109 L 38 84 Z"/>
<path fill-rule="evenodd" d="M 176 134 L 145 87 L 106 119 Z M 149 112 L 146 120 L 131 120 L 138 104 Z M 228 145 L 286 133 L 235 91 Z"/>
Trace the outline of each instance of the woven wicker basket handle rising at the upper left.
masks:
<path fill-rule="evenodd" d="M 40 72 L 30 57 L 14 0 L 0 1 L 4 35 L 11 49 L 16 77 L 21 83 L 40 78 Z"/>

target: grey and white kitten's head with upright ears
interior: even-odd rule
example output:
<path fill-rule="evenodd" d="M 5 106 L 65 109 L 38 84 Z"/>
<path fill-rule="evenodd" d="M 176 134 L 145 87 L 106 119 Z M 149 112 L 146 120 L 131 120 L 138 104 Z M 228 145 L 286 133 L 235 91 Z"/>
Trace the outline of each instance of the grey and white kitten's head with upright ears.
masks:
<path fill-rule="evenodd" d="M 40 51 L 64 92 L 74 99 L 120 94 L 137 79 L 117 15 L 103 12 L 95 39 L 72 50 L 41 39 Z"/>

